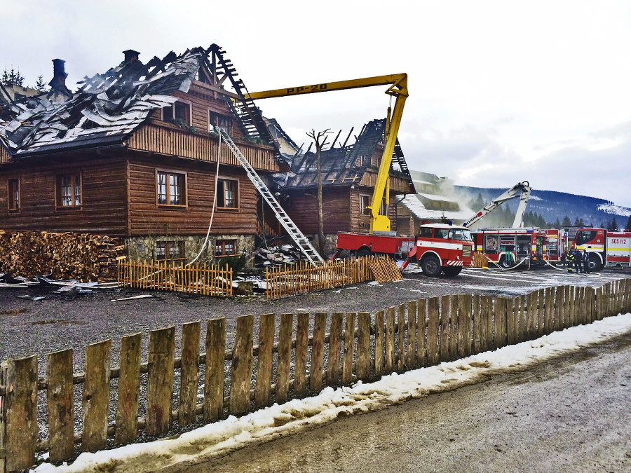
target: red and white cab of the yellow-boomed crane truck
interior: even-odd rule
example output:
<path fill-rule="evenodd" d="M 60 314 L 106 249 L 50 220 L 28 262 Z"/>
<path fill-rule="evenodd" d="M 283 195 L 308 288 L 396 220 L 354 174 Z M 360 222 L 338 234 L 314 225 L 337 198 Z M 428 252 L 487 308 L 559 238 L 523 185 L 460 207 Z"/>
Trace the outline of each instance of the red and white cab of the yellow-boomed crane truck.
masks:
<path fill-rule="evenodd" d="M 464 226 L 448 224 L 421 225 L 401 270 L 413 259 L 426 276 L 436 277 L 440 273 L 447 277 L 457 276 L 462 268 L 473 265 L 471 231 Z"/>

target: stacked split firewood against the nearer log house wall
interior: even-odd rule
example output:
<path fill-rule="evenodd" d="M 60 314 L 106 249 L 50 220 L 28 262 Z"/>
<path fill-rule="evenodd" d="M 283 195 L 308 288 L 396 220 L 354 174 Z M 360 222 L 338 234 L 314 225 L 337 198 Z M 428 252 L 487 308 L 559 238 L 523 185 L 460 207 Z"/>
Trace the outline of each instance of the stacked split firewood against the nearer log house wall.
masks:
<path fill-rule="evenodd" d="M 116 280 L 120 238 L 89 233 L 0 231 L 0 273 L 81 282 Z"/>

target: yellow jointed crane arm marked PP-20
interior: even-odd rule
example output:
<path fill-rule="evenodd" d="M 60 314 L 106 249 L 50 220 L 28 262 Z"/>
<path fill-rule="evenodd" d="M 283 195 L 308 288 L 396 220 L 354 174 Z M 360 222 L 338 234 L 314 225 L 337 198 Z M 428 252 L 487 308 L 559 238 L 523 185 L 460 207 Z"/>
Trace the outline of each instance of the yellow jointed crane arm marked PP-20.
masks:
<path fill-rule="evenodd" d="M 381 208 L 381 200 L 384 193 L 388 192 L 389 198 L 389 182 L 390 166 L 392 164 L 392 153 L 394 152 L 397 142 L 397 134 L 399 125 L 401 124 L 401 116 L 403 114 L 403 106 L 407 99 L 407 74 L 391 74 L 388 76 L 374 76 L 348 81 L 325 82 L 312 85 L 301 85 L 299 87 L 289 87 L 276 90 L 265 90 L 263 92 L 253 92 L 245 95 L 246 99 L 269 99 L 272 97 L 287 97 L 290 95 L 313 94 L 317 92 L 331 92 L 332 90 L 355 89 L 362 87 L 374 87 L 375 85 L 390 85 L 386 94 L 396 97 L 394 109 L 388 109 L 388 117 L 386 118 L 386 148 L 384 156 L 379 164 L 379 172 L 376 178 L 376 184 L 372 193 L 370 209 L 370 233 L 374 231 L 390 231 L 390 219 L 386 215 L 379 215 Z"/>

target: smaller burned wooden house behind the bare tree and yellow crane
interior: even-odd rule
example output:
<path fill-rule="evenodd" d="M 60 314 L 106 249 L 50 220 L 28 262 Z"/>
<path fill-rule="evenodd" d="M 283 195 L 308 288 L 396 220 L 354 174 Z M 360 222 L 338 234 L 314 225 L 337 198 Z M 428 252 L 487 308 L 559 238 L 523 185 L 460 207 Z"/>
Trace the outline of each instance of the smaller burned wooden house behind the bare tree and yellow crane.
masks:
<path fill-rule="evenodd" d="M 298 146 L 283 132 L 278 123 L 269 123 L 273 137 L 281 145 L 295 149 L 293 155 L 285 153 L 292 172 L 275 174 L 274 181 L 280 194 L 280 203 L 287 214 L 305 235 L 318 233 L 318 173 L 316 154 L 299 152 Z M 367 232 L 370 217 L 367 208 L 376 184 L 377 173 L 384 153 L 386 120 L 373 120 L 364 125 L 353 144 L 344 142 L 320 154 L 323 183 L 323 230 L 325 249 L 332 253 L 338 232 Z M 352 132 L 352 130 L 351 130 Z M 339 136 L 339 135 L 338 135 Z M 285 148 L 286 149 L 286 148 Z M 391 228 L 396 229 L 396 196 L 414 193 L 405 156 L 397 144 L 389 173 L 389 193 L 384 196 L 379 214 L 387 215 Z"/>

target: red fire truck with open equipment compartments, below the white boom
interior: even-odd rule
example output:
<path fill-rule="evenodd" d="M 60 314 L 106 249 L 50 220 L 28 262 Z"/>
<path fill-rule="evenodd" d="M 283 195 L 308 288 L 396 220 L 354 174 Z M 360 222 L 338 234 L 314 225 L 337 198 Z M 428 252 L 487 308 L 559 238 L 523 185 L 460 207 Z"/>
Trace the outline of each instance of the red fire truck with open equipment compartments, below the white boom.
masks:
<path fill-rule="evenodd" d="M 476 251 L 503 268 L 512 268 L 524 259 L 528 265 L 544 264 L 546 235 L 541 228 L 482 228 L 473 231 L 473 242 Z"/>

